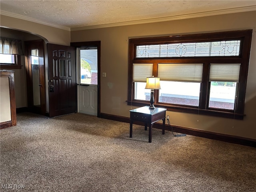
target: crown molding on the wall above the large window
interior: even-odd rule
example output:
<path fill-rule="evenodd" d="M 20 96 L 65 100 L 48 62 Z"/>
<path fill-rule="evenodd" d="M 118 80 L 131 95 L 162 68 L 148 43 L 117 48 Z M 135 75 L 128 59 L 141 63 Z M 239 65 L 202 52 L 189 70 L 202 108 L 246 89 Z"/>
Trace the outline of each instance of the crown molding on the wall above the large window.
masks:
<path fill-rule="evenodd" d="M 246 7 L 239 7 L 239 8 L 230 8 L 230 9 L 222 9 L 222 10 L 215 10 L 215 11 L 198 12 L 198 13 L 192 13 L 192 14 L 183 14 L 183 15 L 176 15 L 176 16 L 168 16 L 168 17 L 152 18 L 152 19 L 144 19 L 144 20 L 134 20 L 134 21 L 101 24 L 101 25 L 93 25 L 93 26 L 74 27 L 74 28 L 71 28 L 70 30 L 78 31 L 78 30 L 116 27 L 116 26 L 134 25 L 134 24 L 146 24 L 146 23 L 164 22 L 164 21 L 171 21 L 171 20 L 180 20 L 180 19 L 214 16 L 214 15 L 239 13 L 239 12 L 249 12 L 249 11 L 256 11 L 256 6 L 246 6 Z"/>

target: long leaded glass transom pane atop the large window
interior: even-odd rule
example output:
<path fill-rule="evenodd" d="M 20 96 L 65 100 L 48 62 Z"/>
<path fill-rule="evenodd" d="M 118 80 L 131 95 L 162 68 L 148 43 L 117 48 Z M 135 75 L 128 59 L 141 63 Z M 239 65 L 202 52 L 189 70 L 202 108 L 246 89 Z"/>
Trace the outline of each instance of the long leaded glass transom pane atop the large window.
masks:
<path fill-rule="evenodd" d="M 136 46 L 136 58 L 239 56 L 240 40 Z"/>

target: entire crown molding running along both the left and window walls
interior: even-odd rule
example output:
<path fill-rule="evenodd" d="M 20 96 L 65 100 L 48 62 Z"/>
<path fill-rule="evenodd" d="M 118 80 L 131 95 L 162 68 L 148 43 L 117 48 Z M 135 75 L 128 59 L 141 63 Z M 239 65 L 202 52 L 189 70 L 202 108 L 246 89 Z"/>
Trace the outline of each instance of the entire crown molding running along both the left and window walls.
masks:
<path fill-rule="evenodd" d="M 1 10 L 0 14 L 5 15 L 5 16 L 18 18 L 18 19 L 22 19 L 22 20 L 36 22 L 36 23 L 39 23 L 39 24 L 47 25 L 47 26 L 52 26 L 52 27 L 67 30 L 67 31 L 78 31 L 78 30 L 116 27 L 116 26 L 134 25 L 134 24 L 164 22 L 164 21 L 171 21 L 171 20 L 180 20 L 180 19 L 214 16 L 214 15 L 222 15 L 222 14 L 230 14 L 230 13 L 248 12 L 248 11 L 255 11 L 255 10 L 256 10 L 256 6 L 254 5 L 254 6 L 245 6 L 245 7 L 238 7 L 238 8 L 215 10 L 215 11 L 198 12 L 198 13 L 192 13 L 192 14 L 168 16 L 168 17 L 161 17 L 161 18 L 134 20 L 134 21 L 117 22 L 117 23 L 100 24 L 100 25 L 83 26 L 83 27 L 74 27 L 74 28 L 69 28 L 69 27 L 66 27 L 66 26 L 61 26 L 61 25 L 52 24 L 52 23 L 49 23 L 49 22 L 44 22 L 42 20 L 37 20 L 37 19 L 34 19 L 34 18 L 30 18 L 30 17 L 27 17 L 27 16 L 22 16 L 22 15 L 15 14 L 15 13 L 10 13 L 10 12 L 3 11 L 3 10 Z"/>

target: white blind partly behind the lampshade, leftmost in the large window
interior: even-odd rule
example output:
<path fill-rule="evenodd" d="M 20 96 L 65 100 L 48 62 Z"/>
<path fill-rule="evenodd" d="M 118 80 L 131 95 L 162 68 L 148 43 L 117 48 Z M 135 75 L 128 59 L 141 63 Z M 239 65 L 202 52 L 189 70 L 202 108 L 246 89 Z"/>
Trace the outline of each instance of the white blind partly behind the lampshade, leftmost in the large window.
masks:
<path fill-rule="evenodd" d="M 133 82 L 146 82 L 147 77 L 152 77 L 153 64 L 133 64 Z"/>

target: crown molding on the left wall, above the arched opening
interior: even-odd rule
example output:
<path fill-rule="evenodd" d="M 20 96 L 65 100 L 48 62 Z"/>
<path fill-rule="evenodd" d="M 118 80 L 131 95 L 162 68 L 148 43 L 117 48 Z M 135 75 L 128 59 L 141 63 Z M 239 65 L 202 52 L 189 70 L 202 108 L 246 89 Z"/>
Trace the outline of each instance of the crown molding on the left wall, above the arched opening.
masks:
<path fill-rule="evenodd" d="M 22 16 L 22 15 L 19 15 L 19 14 L 15 14 L 15 13 L 3 11 L 3 10 L 1 10 L 0 14 L 1 15 L 5 15 L 5 16 L 9 16 L 9 17 L 14 17 L 14 18 L 18 18 L 18 19 L 22 19 L 22 20 L 26 20 L 26 21 L 31 21 L 31 22 L 35 22 L 35 23 L 39 23 L 39 24 L 43 24 L 43 25 L 47 25 L 47 26 L 51 26 L 51 27 L 55 27 L 55 28 L 59 28 L 59 29 L 70 31 L 69 27 L 65 27 L 65 26 L 61 26 L 61 25 L 57 25 L 57 24 L 53 24 L 53 23 L 49 23 L 49 22 L 44 22 L 42 20 L 34 19 L 34 18 L 31 18 L 31 17 L 27 17 L 27 16 Z"/>

